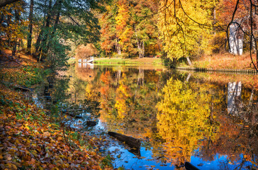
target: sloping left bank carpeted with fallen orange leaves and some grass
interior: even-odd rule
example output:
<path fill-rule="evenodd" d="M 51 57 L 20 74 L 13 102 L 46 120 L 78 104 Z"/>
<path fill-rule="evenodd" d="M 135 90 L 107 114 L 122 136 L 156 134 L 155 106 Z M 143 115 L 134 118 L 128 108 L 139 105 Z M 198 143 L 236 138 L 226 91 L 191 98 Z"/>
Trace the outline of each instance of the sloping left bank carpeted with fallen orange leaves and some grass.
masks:
<path fill-rule="evenodd" d="M 100 139 L 67 130 L 60 116 L 15 89 L 44 81 L 43 65 L 23 53 L 10 56 L 0 56 L 0 169 L 112 169 L 98 154 Z"/>

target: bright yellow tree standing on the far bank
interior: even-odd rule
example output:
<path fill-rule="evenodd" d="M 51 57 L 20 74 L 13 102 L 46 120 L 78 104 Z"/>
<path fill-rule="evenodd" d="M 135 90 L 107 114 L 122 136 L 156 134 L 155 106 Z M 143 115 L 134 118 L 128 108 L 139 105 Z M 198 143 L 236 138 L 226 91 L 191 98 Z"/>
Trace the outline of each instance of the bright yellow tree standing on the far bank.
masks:
<path fill-rule="evenodd" d="M 208 51 L 214 6 L 213 0 L 160 1 L 159 31 L 170 59 L 186 57 L 189 61 Z"/>

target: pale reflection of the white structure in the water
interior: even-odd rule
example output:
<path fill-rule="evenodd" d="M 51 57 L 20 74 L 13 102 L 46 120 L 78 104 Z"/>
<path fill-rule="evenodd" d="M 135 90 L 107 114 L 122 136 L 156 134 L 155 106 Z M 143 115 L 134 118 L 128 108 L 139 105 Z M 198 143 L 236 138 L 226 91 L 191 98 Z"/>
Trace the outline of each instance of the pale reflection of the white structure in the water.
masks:
<path fill-rule="evenodd" d="M 228 83 L 228 113 L 238 115 L 241 103 L 242 84 L 240 82 Z"/>

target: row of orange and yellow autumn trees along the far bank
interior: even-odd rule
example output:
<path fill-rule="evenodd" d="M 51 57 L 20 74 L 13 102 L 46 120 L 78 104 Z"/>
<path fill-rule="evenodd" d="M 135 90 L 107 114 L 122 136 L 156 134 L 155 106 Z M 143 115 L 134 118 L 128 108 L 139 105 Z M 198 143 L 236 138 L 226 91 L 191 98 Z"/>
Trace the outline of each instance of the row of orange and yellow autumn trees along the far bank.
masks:
<path fill-rule="evenodd" d="M 162 54 L 189 64 L 221 52 L 257 56 L 257 0 L 110 0 L 105 7 L 100 47 L 106 56 Z"/>

